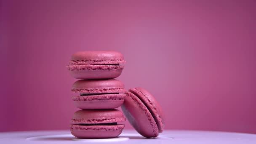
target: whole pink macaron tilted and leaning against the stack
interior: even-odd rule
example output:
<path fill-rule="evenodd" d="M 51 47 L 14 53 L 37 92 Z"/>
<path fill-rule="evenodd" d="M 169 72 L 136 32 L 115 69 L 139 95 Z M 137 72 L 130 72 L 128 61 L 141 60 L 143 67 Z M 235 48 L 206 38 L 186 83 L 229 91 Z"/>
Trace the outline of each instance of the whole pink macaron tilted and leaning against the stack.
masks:
<path fill-rule="evenodd" d="M 157 137 L 163 131 L 163 111 L 155 97 L 143 88 L 125 94 L 122 110 L 133 128 L 144 137 Z"/>

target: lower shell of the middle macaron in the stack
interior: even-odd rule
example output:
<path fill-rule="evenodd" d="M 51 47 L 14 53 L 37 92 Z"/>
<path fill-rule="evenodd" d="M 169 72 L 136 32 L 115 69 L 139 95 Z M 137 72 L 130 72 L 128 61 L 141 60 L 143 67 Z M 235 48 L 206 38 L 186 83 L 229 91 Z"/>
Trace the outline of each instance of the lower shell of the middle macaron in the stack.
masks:
<path fill-rule="evenodd" d="M 115 109 L 123 104 L 125 94 L 72 96 L 71 99 L 80 109 Z"/>

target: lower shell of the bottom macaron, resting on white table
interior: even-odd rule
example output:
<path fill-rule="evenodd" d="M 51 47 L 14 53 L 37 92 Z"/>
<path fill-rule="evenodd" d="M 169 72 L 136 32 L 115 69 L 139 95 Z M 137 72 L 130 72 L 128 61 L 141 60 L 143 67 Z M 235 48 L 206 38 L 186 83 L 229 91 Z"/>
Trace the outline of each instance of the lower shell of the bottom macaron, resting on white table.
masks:
<path fill-rule="evenodd" d="M 70 132 L 80 139 L 114 138 L 123 128 L 124 125 L 70 125 Z"/>

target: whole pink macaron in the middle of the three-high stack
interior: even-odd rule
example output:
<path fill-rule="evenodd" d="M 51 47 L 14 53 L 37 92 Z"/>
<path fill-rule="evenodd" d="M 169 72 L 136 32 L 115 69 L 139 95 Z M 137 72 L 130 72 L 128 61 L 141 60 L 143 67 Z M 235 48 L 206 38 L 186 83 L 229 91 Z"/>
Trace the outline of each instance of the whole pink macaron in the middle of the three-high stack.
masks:
<path fill-rule="evenodd" d="M 115 109 L 123 104 L 126 96 L 119 80 L 78 80 L 71 91 L 71 99 L 80 109 Z"/>

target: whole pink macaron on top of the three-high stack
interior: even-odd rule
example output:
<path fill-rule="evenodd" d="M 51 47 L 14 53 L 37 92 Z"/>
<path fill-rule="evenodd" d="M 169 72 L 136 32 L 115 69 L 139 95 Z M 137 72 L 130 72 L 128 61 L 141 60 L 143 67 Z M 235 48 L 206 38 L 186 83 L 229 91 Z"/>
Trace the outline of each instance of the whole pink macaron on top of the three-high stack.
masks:
<path fill-rule="evenodd" d="M 74 53 L 67 69 L 77 79 L 111 79 L 121 75 L 125 60 L 116 51 L 80 51 Z"/>

